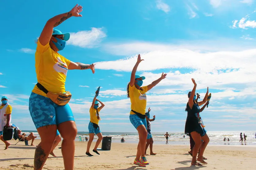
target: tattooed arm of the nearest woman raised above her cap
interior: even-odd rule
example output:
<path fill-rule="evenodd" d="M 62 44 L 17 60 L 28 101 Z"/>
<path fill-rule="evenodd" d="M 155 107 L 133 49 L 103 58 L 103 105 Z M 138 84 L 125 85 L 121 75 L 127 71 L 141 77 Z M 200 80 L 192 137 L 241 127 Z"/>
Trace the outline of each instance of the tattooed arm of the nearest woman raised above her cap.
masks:
<path fill-rule="evenodd" d="M 67 20 L 71 16 L 82 16 L 81 14 L 79 14 L 80 12 L 82 12 L 82 8 L 83 7 L 81 5 L 78 6 L 78 4 L 77 4 L 77 5 L 75 5 L 75 7 L 73 9 L 71 9 L 71 11 L 69 11 L 67 13 L 59 14 L 59 15 L 54 16 L 51 19 L 49 19 L 46 22 L 44 29 L 40 34 L 40 37 L 39 37 L 40 43 L 42 45 L 48 44 L 52 37 L 53 28 L 57 27 L 63 21 Z"/>

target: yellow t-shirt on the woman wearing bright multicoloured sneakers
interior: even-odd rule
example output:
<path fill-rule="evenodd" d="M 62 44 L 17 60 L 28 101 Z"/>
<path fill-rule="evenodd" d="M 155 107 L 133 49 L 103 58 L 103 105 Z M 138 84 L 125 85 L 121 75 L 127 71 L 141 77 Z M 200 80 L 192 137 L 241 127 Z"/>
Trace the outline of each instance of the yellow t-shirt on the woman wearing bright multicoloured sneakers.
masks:
<path fill-rule="evenodd" d="M 131 109 L 139 112 L 140 114 L 145 114 L 147 105 L 147 86 L 142 87 L 144 90 L 138 90 L 135 85 L 131 87 L 129 85 L 129 96 L 131 100 Z M 131 110 L 130 114 L 135 114 Z"/>

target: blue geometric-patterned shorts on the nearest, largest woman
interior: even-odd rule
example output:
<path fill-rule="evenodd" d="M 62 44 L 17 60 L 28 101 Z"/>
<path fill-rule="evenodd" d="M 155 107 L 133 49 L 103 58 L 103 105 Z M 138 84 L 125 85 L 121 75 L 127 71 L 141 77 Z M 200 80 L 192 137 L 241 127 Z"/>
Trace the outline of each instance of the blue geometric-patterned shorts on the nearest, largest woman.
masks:
<path fill-rule="evenodd" d="M 47 97 L 31 93 L 29 112 L 36 128 L 47 125 L 59 125 L 65 121 L 75 121 L 68 104 L 59 106 Z"/>

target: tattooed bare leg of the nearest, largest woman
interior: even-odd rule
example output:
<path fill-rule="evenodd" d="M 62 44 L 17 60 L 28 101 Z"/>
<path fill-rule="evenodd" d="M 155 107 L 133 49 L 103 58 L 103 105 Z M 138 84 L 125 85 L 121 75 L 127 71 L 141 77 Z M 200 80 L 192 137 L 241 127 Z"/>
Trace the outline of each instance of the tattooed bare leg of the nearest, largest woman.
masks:
<path fill-rule="evenodd" d="M 41 142 L 36 147 L 34 157 L 34 170 L 41 170 L 52 150 L 56 136 L 57 125 L 47 125 L 36 129 L 40 135 Z"/>

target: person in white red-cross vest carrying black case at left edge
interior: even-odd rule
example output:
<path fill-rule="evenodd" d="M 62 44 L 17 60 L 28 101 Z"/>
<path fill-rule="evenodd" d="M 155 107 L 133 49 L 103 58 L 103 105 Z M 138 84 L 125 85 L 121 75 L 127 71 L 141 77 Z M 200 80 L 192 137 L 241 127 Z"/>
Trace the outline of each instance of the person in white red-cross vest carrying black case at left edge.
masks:
<path fill-rule="evenodd" d="M 2 96 L 2 104 L 0 105 L 0 139 L 5 143 L 5 150 L 8 149 L 10 143 L 3 138 L 4 127 L 10 127 L 12 106 L 7 102 L 8 98 Z"/>

